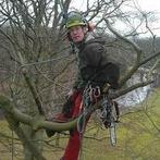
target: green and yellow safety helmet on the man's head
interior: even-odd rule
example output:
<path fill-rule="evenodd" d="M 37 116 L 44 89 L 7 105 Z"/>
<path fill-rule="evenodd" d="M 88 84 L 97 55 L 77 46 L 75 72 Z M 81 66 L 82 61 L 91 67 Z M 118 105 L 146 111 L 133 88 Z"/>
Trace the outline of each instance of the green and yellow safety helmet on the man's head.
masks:
<path fill-rule="evenodd" d="M 72 11 L 67 14 L 66 22 L 65 22 L 65 27 L 70 28 L 72 26 L 76 25 L 87 25 L 87 21 L 83 17 L 83 15 L 78 12 Z"/>

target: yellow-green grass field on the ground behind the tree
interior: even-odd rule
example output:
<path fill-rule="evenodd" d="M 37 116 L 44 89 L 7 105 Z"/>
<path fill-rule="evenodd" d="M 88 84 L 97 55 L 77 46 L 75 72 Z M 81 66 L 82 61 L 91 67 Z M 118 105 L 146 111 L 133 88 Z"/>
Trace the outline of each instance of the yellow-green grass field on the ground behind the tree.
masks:
<path fill-rule="evenodd" d="M 123 113 L 120 120 L 116 146 L 111 146 L 107 130 L 89 122 L 82 144 L 81 160 L 160 160 L 160 89 L 153 91 L 138 108 Z M 21 143 L 16 138 L 12 141 L 12 132 L 5 121 L 0 121 L 0 160 L 12 160 L 12 151 L 14 160 L 23 159 Z M 45 140 L 49 144 L 44 148 L 47 160 L 59 160 L 67 135 L 60 135 L 59 141 L 58 136 L 46 137 Z"/>

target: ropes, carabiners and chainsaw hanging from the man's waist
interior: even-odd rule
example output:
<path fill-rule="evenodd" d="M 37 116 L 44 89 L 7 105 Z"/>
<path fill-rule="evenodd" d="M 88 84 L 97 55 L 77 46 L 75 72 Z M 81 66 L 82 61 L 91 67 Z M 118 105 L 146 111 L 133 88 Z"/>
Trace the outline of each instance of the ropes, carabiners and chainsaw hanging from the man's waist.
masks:
<path fill-rule="evenodd" d="M 116 122 L 119 122 L 119 107 L 115 101 L 110 99 L 110 86 L 104 86 L 104 91 L 100 91 L 100 87 L 93 87 L 91 85 L 87 85 L 83 93 L 83 111 L 77 121 L 77 131 L 83 135 L 85 131 L 85 125 L 88 116 L 91 113 L 93 104 L 96 104 L 100 99 L 101 102 L 101 115 L 103 125 L 109 131 L 110 143 L 112 146 L 116 144 Z"/>

